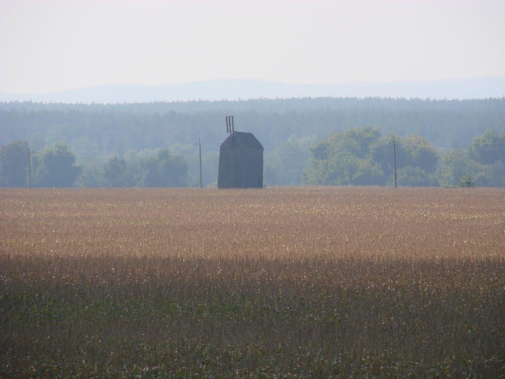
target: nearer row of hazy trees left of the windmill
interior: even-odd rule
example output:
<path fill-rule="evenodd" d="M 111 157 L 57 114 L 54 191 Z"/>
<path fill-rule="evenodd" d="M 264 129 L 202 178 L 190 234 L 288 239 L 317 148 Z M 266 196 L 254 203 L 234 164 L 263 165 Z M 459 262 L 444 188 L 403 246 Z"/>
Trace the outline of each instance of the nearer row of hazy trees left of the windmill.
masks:
<path fill-rule="evenodd" d="M 186 179 L 187 163 L 168 149 L 129 161 L 116 155 L 101 166 L 77 165 L 75 154 L 62 142 L 39 152 L 19 140 L 0 149 L 0 186 L 4 187 L 28 183 L 34 187 L 184 187 Z"/>

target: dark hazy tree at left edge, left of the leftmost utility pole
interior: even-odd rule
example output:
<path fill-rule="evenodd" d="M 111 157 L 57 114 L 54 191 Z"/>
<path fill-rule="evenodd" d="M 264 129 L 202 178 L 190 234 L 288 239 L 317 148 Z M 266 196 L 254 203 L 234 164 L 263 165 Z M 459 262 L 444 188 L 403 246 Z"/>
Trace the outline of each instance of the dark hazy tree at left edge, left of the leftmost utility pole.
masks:
<path fill-rule="evenodd" d="M 14 141 L 0 149 L 0 186 L 25 187 L 28 176 L 28 143 Z"/>

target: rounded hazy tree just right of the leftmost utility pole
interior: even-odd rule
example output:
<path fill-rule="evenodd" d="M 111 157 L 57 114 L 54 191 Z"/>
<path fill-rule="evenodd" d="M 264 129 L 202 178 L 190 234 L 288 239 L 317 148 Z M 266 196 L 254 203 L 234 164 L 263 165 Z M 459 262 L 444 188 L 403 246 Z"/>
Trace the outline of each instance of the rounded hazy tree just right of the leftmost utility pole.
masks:
<path fill-rule="evenodd" d="M 38 187 L 73 187 L 80 174 L 75 155 L 67 144 L 57 142 L 37 154 L 35 184 Z"/>

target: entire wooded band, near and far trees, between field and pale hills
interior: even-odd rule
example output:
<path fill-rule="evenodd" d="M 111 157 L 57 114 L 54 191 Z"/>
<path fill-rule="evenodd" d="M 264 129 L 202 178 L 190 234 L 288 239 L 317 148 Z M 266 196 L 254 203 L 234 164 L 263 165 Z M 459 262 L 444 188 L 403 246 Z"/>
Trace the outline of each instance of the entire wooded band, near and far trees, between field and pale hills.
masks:
<path fill-rule="evenodd" d="M 265 183 L 505 185 L 505 98 L 0 103 L 0 185 L 196 186 L 217 178 L 224 118 L 265 148 Z"/>

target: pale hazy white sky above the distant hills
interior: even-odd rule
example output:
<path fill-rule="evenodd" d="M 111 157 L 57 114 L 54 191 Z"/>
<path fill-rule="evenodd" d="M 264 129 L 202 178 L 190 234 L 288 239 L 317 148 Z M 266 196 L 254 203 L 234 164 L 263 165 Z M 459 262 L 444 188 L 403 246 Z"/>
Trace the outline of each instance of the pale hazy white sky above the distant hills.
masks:
<path fill-rule="evenodd" d="M 0 0 L 0 91 L 505 75 L 505 0 Z"/>

